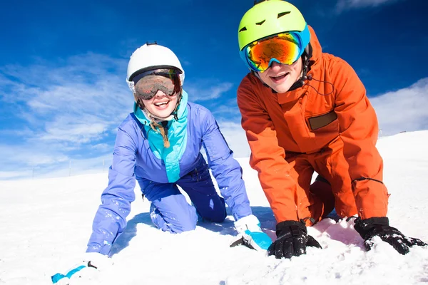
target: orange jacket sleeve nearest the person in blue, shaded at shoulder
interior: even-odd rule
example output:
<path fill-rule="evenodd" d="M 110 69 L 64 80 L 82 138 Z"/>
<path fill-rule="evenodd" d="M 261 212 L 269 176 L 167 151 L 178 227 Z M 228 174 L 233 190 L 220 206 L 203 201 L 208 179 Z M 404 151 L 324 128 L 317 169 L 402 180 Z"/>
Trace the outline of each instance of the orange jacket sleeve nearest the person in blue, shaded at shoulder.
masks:
<path fill-rule="evenodd" d="M 258 88 L 243 79 L 238 88 L 238 107 L 242 126 L 251 149 L 250 165 L 258 171 L 260 184 L 277 222 L 297 220 L 296 185 L 287 175 L 290 166 L 285 151 L 278 145 L 276 130 L 264 106 L 255 95 Z"/>

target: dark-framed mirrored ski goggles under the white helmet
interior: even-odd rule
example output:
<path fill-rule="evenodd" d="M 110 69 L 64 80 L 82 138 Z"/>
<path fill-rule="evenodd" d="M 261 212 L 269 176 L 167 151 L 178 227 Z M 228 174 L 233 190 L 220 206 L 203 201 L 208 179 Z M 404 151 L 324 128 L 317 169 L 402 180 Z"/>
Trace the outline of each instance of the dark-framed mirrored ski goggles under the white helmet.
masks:
<path fill-rule="evenodd" d="M 173 96 L 180 93 L 180 76 L 174 69 L 153 69 L 136 75 L 134 90 L 136 96 L 143 100 L 151 100 L 158 91 Z"/>

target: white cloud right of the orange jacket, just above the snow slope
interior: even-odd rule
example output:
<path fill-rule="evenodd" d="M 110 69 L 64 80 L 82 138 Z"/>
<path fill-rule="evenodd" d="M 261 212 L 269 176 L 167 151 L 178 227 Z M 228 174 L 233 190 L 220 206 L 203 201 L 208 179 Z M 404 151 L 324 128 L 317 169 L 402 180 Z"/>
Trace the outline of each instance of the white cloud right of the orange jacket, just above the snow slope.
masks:
<path fill-rule="evenodd" d="M 370 98 L 382 135 L 428 129 L 428 78 L 412 86 Z"/>

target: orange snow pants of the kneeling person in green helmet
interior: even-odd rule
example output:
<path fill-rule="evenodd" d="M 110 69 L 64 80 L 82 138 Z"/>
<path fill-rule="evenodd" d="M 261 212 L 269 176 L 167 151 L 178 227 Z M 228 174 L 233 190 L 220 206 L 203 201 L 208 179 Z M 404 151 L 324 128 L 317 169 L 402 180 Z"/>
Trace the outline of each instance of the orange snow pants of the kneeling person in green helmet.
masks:
<path fill-rule="evenodd" d="M 334 207 L 340 217 L 357 214 L 348 164 L 342 150 L 343 142 L 337 138 L 318 152 L 285 154 L 285 160 L 290 165 L 290 176 L 297 184 L 297 218 L 304 219 L 307 226 L 319 222 Z M 322 180 L 316 180 L 311 185 L 314 171 L 330 185 Z"/>

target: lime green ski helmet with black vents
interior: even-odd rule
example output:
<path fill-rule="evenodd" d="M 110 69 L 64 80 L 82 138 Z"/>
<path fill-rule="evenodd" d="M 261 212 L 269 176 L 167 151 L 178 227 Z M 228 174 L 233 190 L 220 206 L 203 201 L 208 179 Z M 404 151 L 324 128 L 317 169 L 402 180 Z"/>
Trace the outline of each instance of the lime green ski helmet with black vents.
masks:
<path fill-rule="evenodd" d="M 294 5 L 282 0 L 265 0 L 255 4 L 241 19 L 238 28 L 240 56 L 248 68 L 245 47 L 277 33 L 294 32 L 300 38 L 300 56 L 310 42 L 305 18 Z"/>

